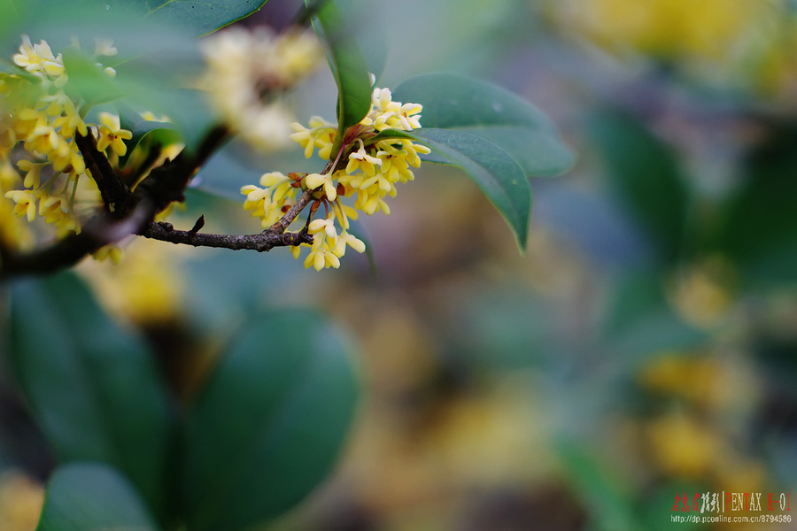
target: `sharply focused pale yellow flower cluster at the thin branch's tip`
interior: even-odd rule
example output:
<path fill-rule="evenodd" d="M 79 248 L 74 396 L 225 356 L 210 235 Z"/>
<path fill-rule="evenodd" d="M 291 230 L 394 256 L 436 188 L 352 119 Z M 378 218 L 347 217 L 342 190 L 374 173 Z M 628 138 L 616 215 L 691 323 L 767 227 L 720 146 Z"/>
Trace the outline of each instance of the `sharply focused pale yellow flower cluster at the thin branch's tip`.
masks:
<path fill-rule="evenodd" d="M 389 89 L 374 89 L 368 115 L 345 132 L 339 133 L 334 124 L 319 117 L 310 119 L 310 127 L 293 124 L 295 133 L 290 139 L 304 148 L 305 157 L 311 158 L 317 149 L 319 157 L 329 160 L 334 171 L 287 176 L 266 173 L 260 180 L 264 188 L 249 185 L 241 189 L 246 195 L 244 209 L 259 217 L 264 228 L 271 227 L 296 202 L 299 190 L 313 190 L 313 206 L 323 204 L 325 216 L 313 219 L 308 227 L 314 237 L 312 245 L 301 246 L 310 248 L 305 267 L 317 271 L 339 267 L 347 247 L 365 251 L 365 244 L 348 232 L 349 219 L 357 219 L 358 211 L 390 214 L 385 197 L 396 195 L 397 183 L 412 181 L 412 168 L 421 165 L 420 155 L 429 153 L 429 148 L 411 140 L 378 135 L 389 129 L 412 131 L 421 127 L 421 111 L 419 104 L 392 101 Z M 337 135 L 343 134 L 340 150 L 333 153 Z M 344 197 L 352 198 L 352 206 L 343 204 Z M 298 258 L 300 248 L 291 250 Z"/>

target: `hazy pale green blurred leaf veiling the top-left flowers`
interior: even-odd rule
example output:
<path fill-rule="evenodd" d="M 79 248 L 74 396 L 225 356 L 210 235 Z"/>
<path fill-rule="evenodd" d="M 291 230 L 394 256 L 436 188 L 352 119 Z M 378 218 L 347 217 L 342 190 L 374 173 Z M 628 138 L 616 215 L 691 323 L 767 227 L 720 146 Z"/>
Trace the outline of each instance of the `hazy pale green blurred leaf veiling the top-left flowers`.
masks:
<path fill-rule="evenodd" d="M 86 100 L 81 112 L 111 102 L 119 109 L 166 114 L 192 149 L 217 121 L 202 93 L 186 89 L 204 68 L 197 40 L 179 25 L 145 17 L 142 7 L 139 2 L 32 0 L 17 6 L 18 24 L 0 34 L 0 51 L 11 57 L 22 34 L 33 42 L 46 40 L 55 54 L 64 55 L 69 94 Z M 112 41 L 118 53 L 95 58 L 97 40 Z M 97 62 L 115 68 L 116 76 L 105 74 Z"/>

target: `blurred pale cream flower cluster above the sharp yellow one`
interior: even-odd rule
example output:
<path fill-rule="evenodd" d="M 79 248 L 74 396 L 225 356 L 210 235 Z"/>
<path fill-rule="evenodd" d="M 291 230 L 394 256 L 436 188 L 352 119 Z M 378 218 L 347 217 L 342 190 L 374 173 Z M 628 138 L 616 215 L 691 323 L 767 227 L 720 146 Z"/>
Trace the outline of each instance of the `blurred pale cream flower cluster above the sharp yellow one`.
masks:
<path fill-rule="evenodd" d="M 261 150 L 282 147 L 290 132 L 290 113 L 274 95 L 310 73 L 322 56 L 311 33 L 275 35 L 230 27 L 205 38 L 207 72 L 200 81 L 221 117 Z"/>

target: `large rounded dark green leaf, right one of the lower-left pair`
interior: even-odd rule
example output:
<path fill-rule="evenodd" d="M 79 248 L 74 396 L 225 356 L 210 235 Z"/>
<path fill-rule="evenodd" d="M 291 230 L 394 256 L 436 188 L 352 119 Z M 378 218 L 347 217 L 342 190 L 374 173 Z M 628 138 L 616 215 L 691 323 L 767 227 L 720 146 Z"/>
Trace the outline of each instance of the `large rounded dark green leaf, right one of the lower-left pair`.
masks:
<path fill-rule="evenodd" d="M 261 312 L 236 335 L 187 419 L 193 531 L 274 518 L 329 473 L 352 419 L 350 347 L 313 312 Z"/>

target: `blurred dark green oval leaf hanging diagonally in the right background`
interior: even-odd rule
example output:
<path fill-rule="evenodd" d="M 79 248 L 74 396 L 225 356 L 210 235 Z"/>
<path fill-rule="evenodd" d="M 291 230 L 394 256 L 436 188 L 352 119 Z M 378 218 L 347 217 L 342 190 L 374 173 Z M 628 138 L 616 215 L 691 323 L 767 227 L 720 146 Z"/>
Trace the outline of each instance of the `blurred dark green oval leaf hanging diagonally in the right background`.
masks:
<path fill-rule="evenodd" d="M 683 251 L 689 201 L 675 153 L 621 112 L 595 112 L 587 126 L 617 194 L 654 240 L 660 257 L 672 262 Z"/>

